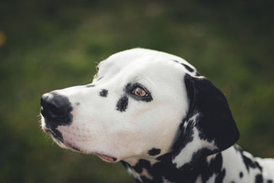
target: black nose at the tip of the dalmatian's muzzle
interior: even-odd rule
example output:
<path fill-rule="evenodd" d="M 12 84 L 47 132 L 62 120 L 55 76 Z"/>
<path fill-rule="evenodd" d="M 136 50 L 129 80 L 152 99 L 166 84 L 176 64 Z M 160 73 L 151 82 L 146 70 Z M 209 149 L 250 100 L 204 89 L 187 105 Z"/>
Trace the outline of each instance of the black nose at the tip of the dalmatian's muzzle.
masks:
<path fill-rule="evenodd" d="M 48 127 L 71 124 L 73 108 L 69 99 L 64 95 L 54 92 L 46 93 L 41 97 L 41 106 L 41 114 L 45 117 Z"/>

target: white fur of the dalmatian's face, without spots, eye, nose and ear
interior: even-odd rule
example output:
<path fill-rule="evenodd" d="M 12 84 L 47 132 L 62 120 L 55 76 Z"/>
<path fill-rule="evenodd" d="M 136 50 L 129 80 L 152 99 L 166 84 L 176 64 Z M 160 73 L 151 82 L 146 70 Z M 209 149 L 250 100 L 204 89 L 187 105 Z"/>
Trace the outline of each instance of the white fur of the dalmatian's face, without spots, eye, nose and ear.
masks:
<path fill-rule="evenodd" d="M 55 90 L 68 97 L 73 107 L 73 123 L 58 126 L 64 144 L 83 153 L 105 154 L 129 164 L 135 164 L 140 157 L 151 158 L 147 154 L 151 147 L 161 149 L 161 154 L 168 152 L 188 109 L 183 80 L 188 71 L 172 60 L 188 64 L 160 51 L 122 51 L 99 63 L 97 78 L 102 79 L 92 82 L 95 87 Z M 136 82 L 151 91 L 153 100 L 136 101 L 129 97 L 126 112 L 116 110 L 125 85 Z M 101 89 L 108 90 L 107 97 L 99 97 Z"/>

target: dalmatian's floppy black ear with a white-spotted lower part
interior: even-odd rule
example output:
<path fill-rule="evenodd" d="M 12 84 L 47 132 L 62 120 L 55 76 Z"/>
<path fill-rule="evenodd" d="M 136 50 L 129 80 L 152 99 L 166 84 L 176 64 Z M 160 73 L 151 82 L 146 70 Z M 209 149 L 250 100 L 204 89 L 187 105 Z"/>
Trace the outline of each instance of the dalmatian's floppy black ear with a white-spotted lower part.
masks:
<path fill-rule="evenodd" d="M 188 114 L 172 147 L 177 169 L 192 169 L 207 156 L 234 145 L 239 138 L 225 95 L 206 77 L 184 76 Z"/>

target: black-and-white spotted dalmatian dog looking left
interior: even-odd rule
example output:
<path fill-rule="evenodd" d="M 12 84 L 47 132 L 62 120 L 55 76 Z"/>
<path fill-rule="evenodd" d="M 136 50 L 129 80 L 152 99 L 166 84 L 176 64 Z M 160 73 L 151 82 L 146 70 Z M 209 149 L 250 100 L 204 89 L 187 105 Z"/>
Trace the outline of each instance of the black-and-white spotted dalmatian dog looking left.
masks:
<path fill-rule="evenodd" d="M 186 60 L 137 48 L 97 71 L 42 95 L 42 130 L 60 147 L 121 162 L 136 182 L 273 183 L 274 159 L 235 145 L 225 95 Z"/>

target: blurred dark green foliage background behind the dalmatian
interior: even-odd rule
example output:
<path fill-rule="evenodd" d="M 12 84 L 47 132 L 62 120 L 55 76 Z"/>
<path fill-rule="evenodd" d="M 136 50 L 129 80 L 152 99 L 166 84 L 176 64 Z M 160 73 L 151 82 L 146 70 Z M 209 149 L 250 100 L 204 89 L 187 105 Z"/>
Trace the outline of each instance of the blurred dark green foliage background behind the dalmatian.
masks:
<path fill-rule="evenodd" d="M 88 84 L 132 47 L 182 56 L 221 88 L 238 143 L 272 156 L 273 1 L 0 1 L 0 182 L 133 182 L 121 164 L 60 149 L 40 96 Z"/>

